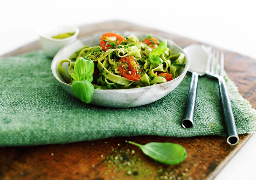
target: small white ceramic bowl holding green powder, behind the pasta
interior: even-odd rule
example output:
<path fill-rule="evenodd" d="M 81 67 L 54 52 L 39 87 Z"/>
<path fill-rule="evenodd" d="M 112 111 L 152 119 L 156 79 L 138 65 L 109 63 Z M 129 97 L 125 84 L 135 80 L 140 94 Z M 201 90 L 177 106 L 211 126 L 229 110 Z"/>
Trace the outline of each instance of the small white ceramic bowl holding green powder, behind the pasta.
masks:
<path fill-rule="evenodd" d="M 52 38 L 58 34 L 66 32 L 75 32 L 73 36 L 64 39 Z M 76 26 L 42 26 L 37 28 L 37 34 L 40 36 L 40 44 L 44 53 L 49 57 L 54 57 L 55 54 L 67 44 L 74 42 L 79 34 L 79 29 Z"/>

